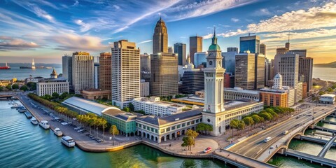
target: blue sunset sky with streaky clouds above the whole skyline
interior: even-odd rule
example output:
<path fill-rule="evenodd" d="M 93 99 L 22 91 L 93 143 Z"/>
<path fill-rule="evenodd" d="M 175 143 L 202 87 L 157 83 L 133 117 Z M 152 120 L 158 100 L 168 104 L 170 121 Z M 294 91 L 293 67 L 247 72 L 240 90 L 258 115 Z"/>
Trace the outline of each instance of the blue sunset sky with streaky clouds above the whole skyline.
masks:
<path fill-rule="evenodd" d="M 272 59 L 290 34 L 290 49 L 307 49 L 314 64 L 336 61 L 336 0 L 1 0 L 0 63 L 62 63 L 62 56 L 111 52 L 120 39 L 152 52 L 162 17 L 169 46 L 203 36 L 203 50 L 216 27 L 225 52 L 239 36 L 255 33 Z"/>

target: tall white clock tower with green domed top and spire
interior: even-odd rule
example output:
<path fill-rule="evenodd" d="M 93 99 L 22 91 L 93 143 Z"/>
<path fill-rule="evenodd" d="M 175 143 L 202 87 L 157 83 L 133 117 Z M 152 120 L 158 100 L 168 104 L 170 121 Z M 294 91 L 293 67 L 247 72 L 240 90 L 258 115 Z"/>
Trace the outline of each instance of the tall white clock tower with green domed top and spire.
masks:
<path fill-rule="evenodd" d="M 218 136 L 225 132 L 224 109 L 224 72 L 221 48 L 217 44 L 216 29 L 209 46 L 207 68 L 204 69 L 204 110 L 202 122 L 212 125 L 211 135 Z"/>

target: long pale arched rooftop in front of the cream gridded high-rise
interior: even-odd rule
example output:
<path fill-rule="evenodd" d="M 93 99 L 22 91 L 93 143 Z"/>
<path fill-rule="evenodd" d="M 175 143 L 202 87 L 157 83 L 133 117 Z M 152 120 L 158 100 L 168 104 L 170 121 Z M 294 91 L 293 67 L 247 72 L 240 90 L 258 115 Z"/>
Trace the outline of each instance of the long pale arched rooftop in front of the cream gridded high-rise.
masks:
<path fill-rule="evenodd" d="M 116 112 L 116 110 L 120 111 L 114 106 L 105 106 L 103 104 L 99 104 L 87 99 L 81 99 L 79 97 L 71 97 L 66 99 L 64 102 L 62 102 L 62 104 L 72 106 L 73 108 L 79 109 L 81 111 L 95 113 L 98 116 L 102 116 L 102 113 L 106 111 L 110 111 L 109 113 Z"/>

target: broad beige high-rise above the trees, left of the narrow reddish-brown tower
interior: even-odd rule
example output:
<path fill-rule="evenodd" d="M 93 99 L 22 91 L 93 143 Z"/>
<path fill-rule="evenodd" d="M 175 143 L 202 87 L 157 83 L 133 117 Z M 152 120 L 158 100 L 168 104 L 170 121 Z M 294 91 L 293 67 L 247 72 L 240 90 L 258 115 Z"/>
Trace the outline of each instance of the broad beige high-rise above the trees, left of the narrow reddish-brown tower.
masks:
<path fill-rule="evenodd" d="M 75 93 L 94 87 L 94 60 L 88 52 L 72 54 L 72 85 Z"/>

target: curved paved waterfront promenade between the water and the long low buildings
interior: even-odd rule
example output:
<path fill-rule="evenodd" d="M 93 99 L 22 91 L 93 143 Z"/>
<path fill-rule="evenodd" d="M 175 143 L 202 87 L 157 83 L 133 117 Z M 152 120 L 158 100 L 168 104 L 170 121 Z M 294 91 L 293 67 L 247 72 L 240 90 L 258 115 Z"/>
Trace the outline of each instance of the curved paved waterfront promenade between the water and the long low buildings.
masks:
<path fill-rule="evenodd" d="M 230 155 L 226 155 L 229 153 L 223 149 L 220 149 L 219 144 L 214 139 L 209 139 L 208 137 L 200 136 L 195 141 L 196 146 L 192 148 L 191 151 L 186 151 L 181 147 L 181 139 L 170 140 L 162 144 L 153 143 L 153 141 L 149 139 L 141 139 L 140 137 L 116 137 L 116 144 L 113 146 L 112 141 L 109 139 L 111 135 L 105 136 L 105 141 L 102 143 L 97 143 L 93 141 L 89 137 L 87 137 L 86 133 L 79 133 L 76 130 L 73 130 L 73 127 L 69 125 L 62 125 L 57 121 L 53 121 L 52 117 L 42 111 L 41 109 L 36 109 L 30 106 L 30 102 L 34 102 L 33 100 L 27 98 L 25 94 L 17 95 L 20 102 L 26 106 L 26 108 L 31 111 L 31 113 L 36 117 L 37 120 L 48 120 L 50 123 L 51 129 L 55 129 L 55 127 L 59 127 L 60 130 L 64 133 L 64 135 L 69 135 L 76 141 L 76 145 L 78 148 L 83 151 L 88 152 L 106 152 L 106 151 L 118 151 L 123 148 L 128 148 L 130 146 L 135 146 L 137 144 L 145 144 L 147 146 L 151 146 L 152 148 L 156 148 L 159 151 L 167 153 L 169 155 L 174 155 L 181 158 L 208 158 L 208 159 L 218 159 L 222 160 L 225 163 L 229 163 L 235 165 L 237 167 L 274 167 L 272 165 L 268 165 L 267 163 L 258 162 L 256 160 L 251 160 L 242 155 L 236 155 L 232 153 Z M 34 102 L 34 104 L 38 104 Z M 41 106 L 41 104 L 39 104 Z M 102 134 L 99 134 L 99 138 L 102 138 Z M 204 148 L 207 147 L 213 148 L 211 153 L 203 153 Z M 248 166 L 251 165 L 251 166 Z"/>

